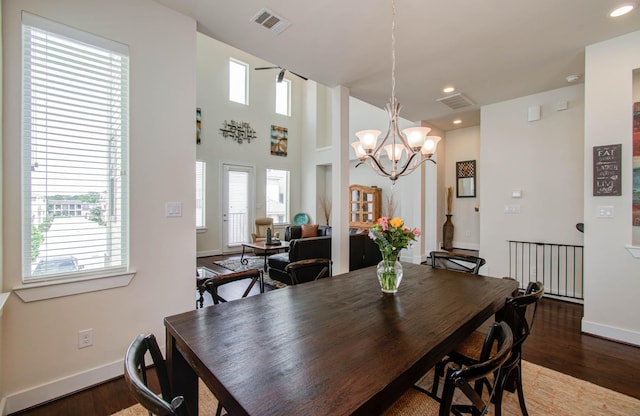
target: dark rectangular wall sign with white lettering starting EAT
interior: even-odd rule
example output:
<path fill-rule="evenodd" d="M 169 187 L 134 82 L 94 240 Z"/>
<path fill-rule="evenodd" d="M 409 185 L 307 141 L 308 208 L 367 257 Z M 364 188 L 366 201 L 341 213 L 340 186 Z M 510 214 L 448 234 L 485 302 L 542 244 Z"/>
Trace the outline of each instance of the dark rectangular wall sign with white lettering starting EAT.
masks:
<path fill-rule="evenodd" d="M 621 156 L 621 144 L 593 147 L 593 196 L 622 195 Z"/>

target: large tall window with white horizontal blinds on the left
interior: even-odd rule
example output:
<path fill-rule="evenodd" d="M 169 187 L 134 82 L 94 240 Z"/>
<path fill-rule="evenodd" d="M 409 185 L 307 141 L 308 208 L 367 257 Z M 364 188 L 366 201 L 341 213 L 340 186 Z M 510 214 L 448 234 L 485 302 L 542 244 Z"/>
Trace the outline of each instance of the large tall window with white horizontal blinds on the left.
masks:
<path fill-rule="evenodd" d="M 23 280 L 129 265 L 128 47 L 23 12 Z"/>

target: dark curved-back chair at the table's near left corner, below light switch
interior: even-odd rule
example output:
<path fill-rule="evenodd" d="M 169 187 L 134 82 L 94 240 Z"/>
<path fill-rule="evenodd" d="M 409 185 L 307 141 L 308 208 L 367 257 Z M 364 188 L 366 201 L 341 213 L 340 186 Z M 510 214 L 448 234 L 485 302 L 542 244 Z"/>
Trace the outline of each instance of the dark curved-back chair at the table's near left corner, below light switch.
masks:
<path fill-rule="evenodd" d="M 147 367 L 145 363 L 147 352 L 153 367 Z M 162 396 L 149 388 L 148 371 L 156 372 Z M 171 392 L 166 363 L 153 334 L 138 335 L 129 345 L 124 360 L 124 379 L 133 396 L 149 411 L 150 416 L 189 415 L 187 407 L 183 406 L 184 397 L 174 396 Z"/>

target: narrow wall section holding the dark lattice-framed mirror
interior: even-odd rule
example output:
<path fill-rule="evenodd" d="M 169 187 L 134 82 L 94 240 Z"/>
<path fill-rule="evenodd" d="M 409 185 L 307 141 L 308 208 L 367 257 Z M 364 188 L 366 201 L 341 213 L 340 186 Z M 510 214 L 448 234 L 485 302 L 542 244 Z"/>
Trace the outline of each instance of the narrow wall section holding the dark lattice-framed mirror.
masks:
<path fill-rule="evenodd" d="M 446 187 L 453 187 L 453 204 L 451 221 L 454 224 L 453 246 L 456 248 L 466 248 L 470 250 L 480 249 L 480 213 L 476 212 L 475 206 L 480 201 L 480 192 L 476 186 L 475 198 L 456 197 L 456 162 L 465 160 L 476 161 L 476 184 L 480 177 L 480 126 L 468 127 L 465 129 L 452 130 L 446 135 L 446 157 L 445 157 L 445 190 Z M 445 194 L 441 195 L 445 198 Z M 440 225 L 444 223 L 442 218 Z"/>

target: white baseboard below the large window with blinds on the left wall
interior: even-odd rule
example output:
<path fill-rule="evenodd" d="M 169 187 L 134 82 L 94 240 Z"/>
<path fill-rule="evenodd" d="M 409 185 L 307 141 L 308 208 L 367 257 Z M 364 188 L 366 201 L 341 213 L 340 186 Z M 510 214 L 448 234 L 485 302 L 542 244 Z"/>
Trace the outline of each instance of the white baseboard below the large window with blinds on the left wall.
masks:
<path fill-rule="evenodd" d="M 122 376 L 123 371 L 124 359 L 9 394 L 3 398 L 0 403 L 2 406 L 2 412 L 0 412 L 0 414 L 5 415 L 19 412 L 67 396 L 71 393 Z"/>

